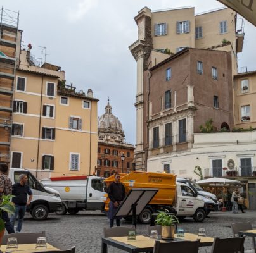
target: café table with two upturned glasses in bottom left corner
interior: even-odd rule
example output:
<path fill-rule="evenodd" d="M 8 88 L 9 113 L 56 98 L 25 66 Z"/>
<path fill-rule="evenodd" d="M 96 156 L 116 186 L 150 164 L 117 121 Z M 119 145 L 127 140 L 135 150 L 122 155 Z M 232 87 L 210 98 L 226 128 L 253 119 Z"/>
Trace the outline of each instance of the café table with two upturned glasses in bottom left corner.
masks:
<path fill-rule="evenodd" d="M 11 252 L 11 253 L 16 253 L 16 252 L 22 252 L 22 253 L 31 253 L 31 252 L 41 252 L 41 251 L 51 251 L 51 250 L 60 250 L 56 247 L 54 247 L 51 244 L 46 244 L 46 249 L 35 249 L 36 244 L 18 244 L 18 248 L 16 249 L 7 249 L 6 250 L 6 245 L 1 245 L 1 251 L 3 252 Z"/>

